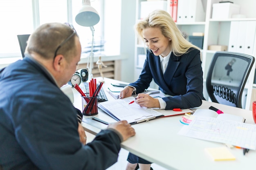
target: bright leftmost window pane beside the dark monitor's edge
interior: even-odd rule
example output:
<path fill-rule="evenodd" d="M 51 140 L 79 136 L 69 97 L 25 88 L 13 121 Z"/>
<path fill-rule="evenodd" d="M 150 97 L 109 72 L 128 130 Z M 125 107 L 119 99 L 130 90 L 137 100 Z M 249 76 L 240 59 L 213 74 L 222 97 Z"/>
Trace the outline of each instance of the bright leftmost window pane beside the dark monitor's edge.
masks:
<path fill-rule="evenodd" d="M 1 0 L 0 53 L 3 53 L 3 57 L 18 54 L 21 57 L 17 35 L 33 31 L 31 7 L 31 0 Z"/>

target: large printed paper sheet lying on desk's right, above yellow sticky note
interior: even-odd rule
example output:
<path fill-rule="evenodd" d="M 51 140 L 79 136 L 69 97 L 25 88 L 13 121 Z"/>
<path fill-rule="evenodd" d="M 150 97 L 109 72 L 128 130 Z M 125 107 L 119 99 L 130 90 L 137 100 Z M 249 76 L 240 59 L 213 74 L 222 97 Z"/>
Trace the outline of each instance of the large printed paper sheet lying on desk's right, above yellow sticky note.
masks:
<path fill-rule="evenodd" d="M 256 149 L 256 125 L 215 117 L 195 117 L 179 135 Z"/>

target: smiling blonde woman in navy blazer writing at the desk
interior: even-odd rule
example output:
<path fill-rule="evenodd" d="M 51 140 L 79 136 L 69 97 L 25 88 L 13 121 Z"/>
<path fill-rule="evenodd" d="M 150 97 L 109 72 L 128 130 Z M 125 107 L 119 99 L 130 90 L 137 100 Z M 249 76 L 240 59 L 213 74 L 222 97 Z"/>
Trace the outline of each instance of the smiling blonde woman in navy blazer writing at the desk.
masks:
<path fill-rule="evenodd" d="M 203 72 L 200 49 L 188 42 L 166 11 L 153 11 L 135 25 L 147 46 L 146 60 L 139 79 L 120 93 L 130 97 L 135 91 L 136 104 L 147 108 L 170 110 L 193 108 L 202 104 Z M 154 82 L 169 97 L 153 98 L 144 92 Z M 150 170 L 150 162 L 129 153 L 126 170 Z M 152 168 L 151 168 L 152 169 Z"/>

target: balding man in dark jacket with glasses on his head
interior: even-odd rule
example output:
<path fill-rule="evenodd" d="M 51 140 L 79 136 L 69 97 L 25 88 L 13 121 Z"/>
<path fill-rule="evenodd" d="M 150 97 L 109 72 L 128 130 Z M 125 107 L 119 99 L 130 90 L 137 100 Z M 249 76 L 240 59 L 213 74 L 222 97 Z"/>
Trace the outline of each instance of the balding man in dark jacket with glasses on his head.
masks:
<path fill-rule="evenodd" d="M 135 135 L 127 121 L 84 145 L 77 109 L 60 90 L 76 71 L 81 44 L 66 24 L 43 24 L 30 35 L 25 58 L 0 73 L 0 166 L 6 170 L 105 170 L 120 143 Z M 78 130 L 79 129 L 79 130 Z"/>

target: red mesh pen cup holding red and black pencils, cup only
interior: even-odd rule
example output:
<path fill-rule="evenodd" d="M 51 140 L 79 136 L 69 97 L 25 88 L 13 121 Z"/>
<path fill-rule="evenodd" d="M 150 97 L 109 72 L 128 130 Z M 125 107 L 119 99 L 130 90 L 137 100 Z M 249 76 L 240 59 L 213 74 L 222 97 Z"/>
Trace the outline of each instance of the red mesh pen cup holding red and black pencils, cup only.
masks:
<path fill-rule="evenodd" d="M 98 114 L 98 99 L 95 97 L 82 96 L 83 115 L 93 116 Z"/>

